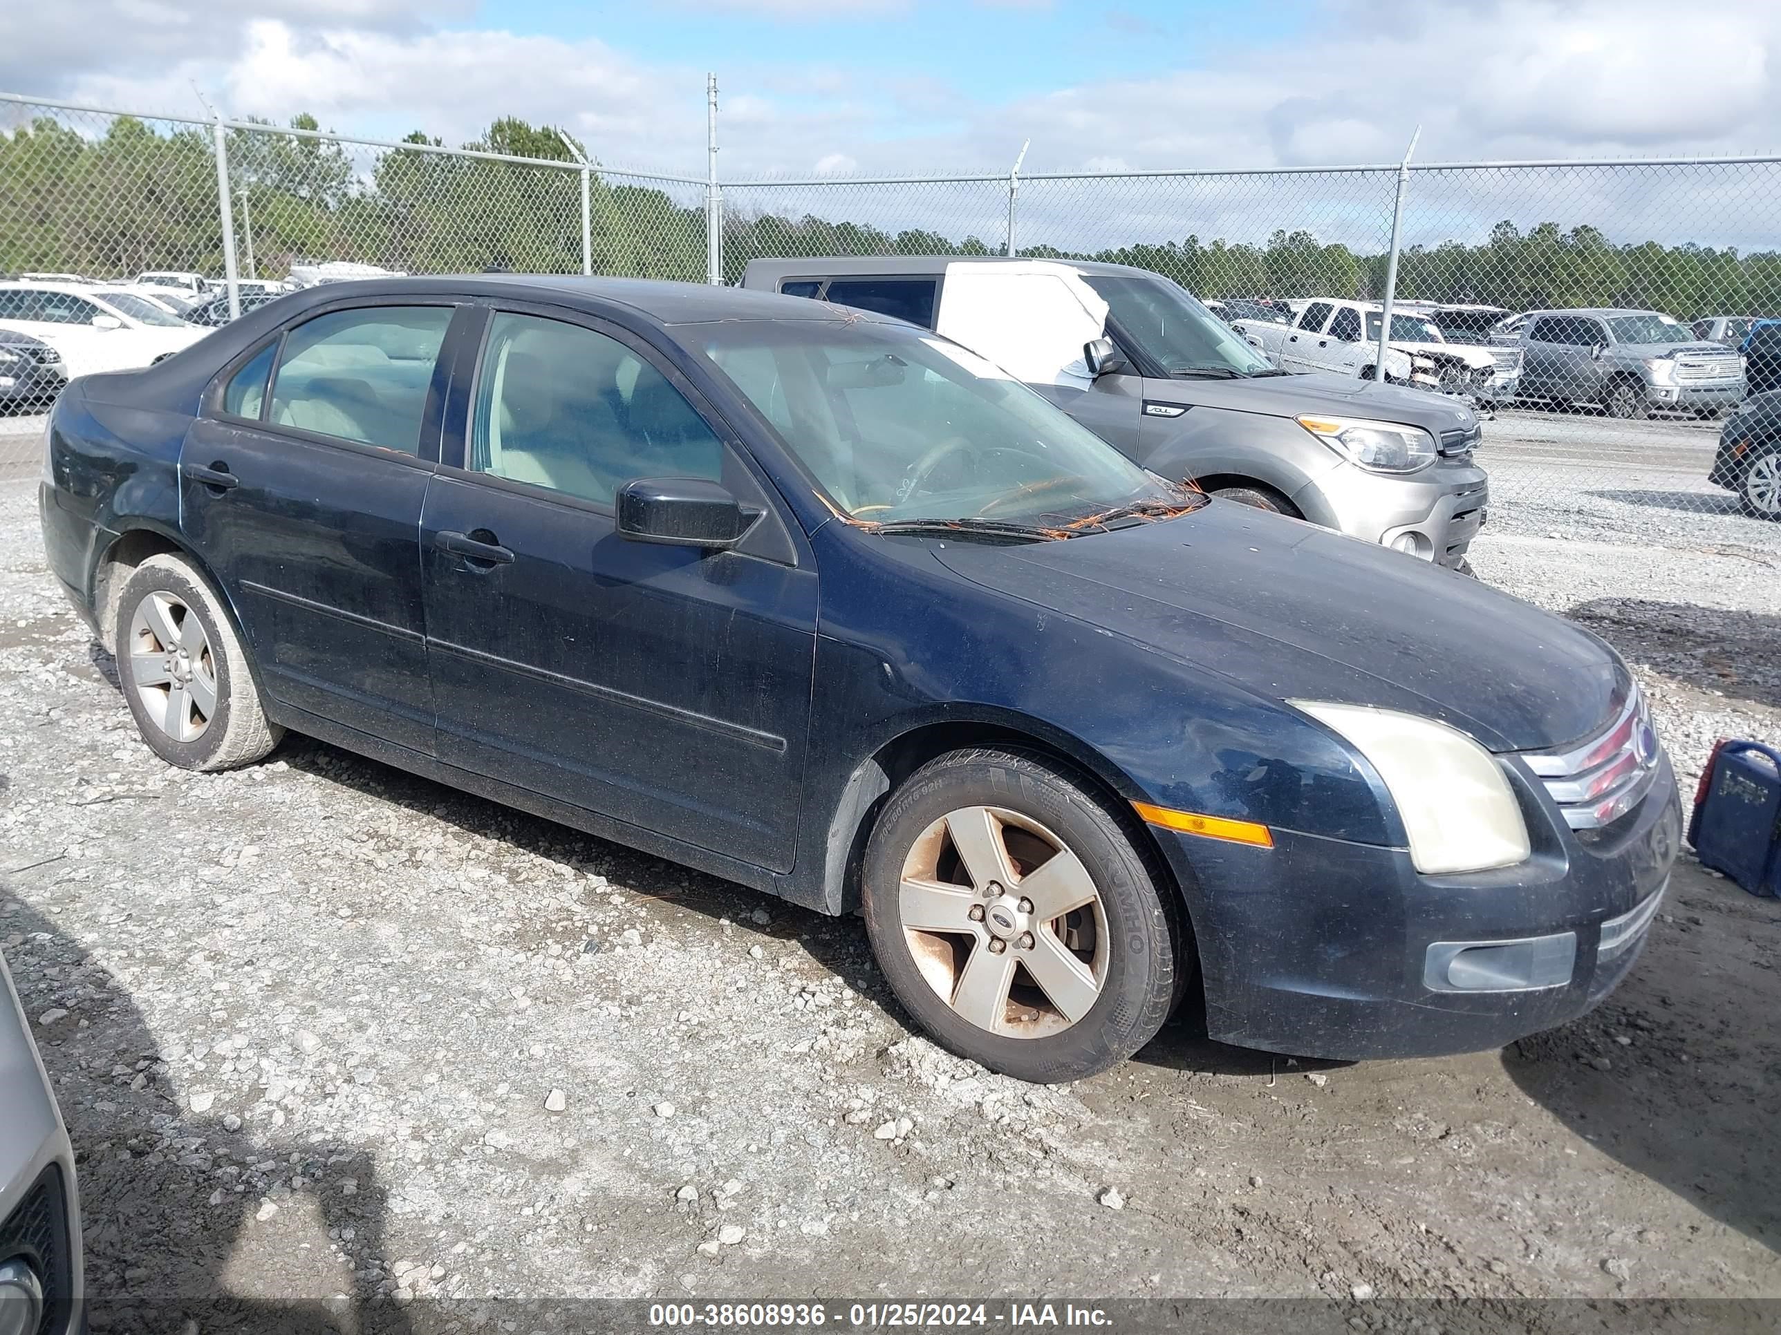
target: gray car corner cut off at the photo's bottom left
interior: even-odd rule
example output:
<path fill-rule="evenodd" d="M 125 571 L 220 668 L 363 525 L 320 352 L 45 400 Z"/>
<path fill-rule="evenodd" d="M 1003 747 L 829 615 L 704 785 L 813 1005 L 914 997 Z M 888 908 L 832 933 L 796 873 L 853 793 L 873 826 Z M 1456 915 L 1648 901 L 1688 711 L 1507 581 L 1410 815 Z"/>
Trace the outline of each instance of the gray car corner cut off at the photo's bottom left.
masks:
<path fill-rule="evenodd" d="M 0 959 L 0 1335 L 78 1324 L 75 1152 Z"/>

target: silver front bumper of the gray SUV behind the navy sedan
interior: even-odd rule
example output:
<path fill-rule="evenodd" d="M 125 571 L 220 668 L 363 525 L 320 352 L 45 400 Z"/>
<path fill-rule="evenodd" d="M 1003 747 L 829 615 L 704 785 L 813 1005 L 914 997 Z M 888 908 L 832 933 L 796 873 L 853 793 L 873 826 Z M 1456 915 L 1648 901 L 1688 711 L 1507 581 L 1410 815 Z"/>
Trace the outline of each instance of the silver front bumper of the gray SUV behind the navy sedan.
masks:
<path fill-rule="evenodd" d="M 1407 477 L 1345 463 L 1304 488 L 1293 504 L 1305 518 L 1350 538 L 1398 545 L 1455 568 L 1484 527 L 1491 484 L 1476 465 L 1448 457 Z"/>

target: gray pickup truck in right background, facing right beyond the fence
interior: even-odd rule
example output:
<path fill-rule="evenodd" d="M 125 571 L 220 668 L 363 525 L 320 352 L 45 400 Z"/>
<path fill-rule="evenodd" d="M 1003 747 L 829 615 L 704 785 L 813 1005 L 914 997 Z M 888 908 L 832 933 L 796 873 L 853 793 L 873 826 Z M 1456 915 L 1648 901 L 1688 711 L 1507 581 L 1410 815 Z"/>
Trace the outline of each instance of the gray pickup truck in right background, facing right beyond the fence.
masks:
<path fill-rule="evenodd" d="M 1537 310 L 1492 342 L 1521 347 L 1521 397 L 1712 417 L 1744 399 L 1744 360 L 1649 310 Z"/>

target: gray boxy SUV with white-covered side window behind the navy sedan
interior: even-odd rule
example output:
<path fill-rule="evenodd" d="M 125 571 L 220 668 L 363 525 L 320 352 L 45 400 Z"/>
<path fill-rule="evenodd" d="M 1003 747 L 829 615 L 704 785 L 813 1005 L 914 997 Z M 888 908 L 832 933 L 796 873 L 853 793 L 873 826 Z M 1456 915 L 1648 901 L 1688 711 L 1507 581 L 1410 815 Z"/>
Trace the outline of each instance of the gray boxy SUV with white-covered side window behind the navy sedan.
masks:
<path fill-rule="evenodd" d="M 1206 491 L 1469 570 L 1489 484 L 1460 399 L 1273 368 L 1147 269 L 960 256 L 752 260 L 743 287 L 896 315 Z"/>

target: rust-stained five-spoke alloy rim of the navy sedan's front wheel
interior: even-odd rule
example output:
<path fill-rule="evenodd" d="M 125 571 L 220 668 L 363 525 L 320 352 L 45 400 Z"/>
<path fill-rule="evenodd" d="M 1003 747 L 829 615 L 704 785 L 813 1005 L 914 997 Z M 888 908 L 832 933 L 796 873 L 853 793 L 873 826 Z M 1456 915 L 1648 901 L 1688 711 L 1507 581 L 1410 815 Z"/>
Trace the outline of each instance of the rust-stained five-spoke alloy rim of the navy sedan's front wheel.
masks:
<path fill-rule="evenodd" d="M 1106 984 L 1106 908 L 1081 858 L 1031 817 L 964 806 L 903 860 L 903 938 L 962 1020 L 1004 1038 L 1079 1022 Z"/>

